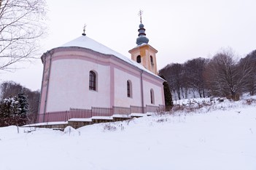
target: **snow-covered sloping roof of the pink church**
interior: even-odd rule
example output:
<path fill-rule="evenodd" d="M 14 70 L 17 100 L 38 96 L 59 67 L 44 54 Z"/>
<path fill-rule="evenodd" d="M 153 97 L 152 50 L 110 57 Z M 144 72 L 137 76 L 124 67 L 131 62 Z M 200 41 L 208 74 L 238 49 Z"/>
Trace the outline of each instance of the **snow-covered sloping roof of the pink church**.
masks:
<path fill-rule="evenodd" d="M 115 57 L 119 58 L 120 60 L 128 62 L 128 64 L 131 64 L 131 65 L 135 66 L 136 68 L 144 70 L 145 72 L 150 73 L 151 75 L 160 78 L 159 76 L 152 73 L 150 70 L 147 70 L 147 68 L 144 68 L 144 66 L 140 65 L 138 62 L 135 62 L 128 57 L 125 57 L 123 54 L 115 52 L 113 49 L 110 49 L 109 47 L 104 46 L 103 44 L 101 44 L 93 39 L 90 39 L 88 36 L 79 36 L 77 39 L 69 41 L 66 44 L 63 44 L 61 47 L 68 47 L 68 46 L 77 46 L 77 47 L 82 47 L 82 48 L 86 48 L 86 49 L 92 49 L 93 51 L 100 52 L 102 54 L 112 54 Z M 162 79 L 162 78 L 160 78 L 160 79 Z"/>

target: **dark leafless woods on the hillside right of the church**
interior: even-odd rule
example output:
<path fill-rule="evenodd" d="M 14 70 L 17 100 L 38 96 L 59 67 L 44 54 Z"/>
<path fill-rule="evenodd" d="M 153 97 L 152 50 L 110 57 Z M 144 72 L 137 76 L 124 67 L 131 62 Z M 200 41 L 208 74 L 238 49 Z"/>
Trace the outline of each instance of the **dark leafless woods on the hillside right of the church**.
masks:
<path fill-rule="evenodd" d="M 189 93 L 194 97 L 198 94 L 238 100 L 246 92 L 255 95 L 256 50 L 238 60 L 231 49 L 222 49 L 212 59 L 199 57 L 183 64 L 168 64 L 159 74 L 166 78 L 177 100 L 187 98 Z"/>

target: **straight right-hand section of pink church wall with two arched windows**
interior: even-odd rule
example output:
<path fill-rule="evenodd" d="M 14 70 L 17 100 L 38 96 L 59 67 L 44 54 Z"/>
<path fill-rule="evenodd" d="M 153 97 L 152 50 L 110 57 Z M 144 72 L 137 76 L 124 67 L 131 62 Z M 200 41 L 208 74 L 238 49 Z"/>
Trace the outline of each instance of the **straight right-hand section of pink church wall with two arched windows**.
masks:
<path fill-rule="evenodd" d="M 141 106 L 141 70 L 128 69 L 125 67 L 115 68 L 115 106 L 129 107 L 130 105 Z M 164 105 L 163 81 L 152 78 L 147 73 L 142 73 L 144 106 Z M 132 83 L 132 97 L 127 97 L 127 81 Z M 150 89 L 154 90 L 155 103 L 151 104 Z"/>

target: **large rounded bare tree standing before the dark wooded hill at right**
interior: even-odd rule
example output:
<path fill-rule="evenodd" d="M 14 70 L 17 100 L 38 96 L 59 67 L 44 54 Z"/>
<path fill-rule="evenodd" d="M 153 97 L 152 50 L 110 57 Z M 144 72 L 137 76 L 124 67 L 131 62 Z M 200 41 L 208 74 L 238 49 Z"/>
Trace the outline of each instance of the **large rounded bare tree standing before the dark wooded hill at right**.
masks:
<path fill-rule="evenodd" d="M 231 49 L 217 53 L 206 67 L 206 79 L 213 95 L 239 99 L 251 73 L 247 62 L 239 63 Z"/>

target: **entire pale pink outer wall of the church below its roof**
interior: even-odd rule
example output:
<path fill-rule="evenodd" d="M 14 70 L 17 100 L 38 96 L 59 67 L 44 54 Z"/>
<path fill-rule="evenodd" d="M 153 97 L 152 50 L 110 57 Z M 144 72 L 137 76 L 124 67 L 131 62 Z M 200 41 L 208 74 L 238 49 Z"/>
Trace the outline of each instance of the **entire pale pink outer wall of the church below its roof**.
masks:
<path fill-rule="evenodd" d="M 46 112 L 69 110 L 69 108 L 105 107 L 112 105 L 128 107 L 141 106 L 141 70 L 112 55 L 100 54 L 90 49 L 54 49 L 50 68 L 50 54 L 44 62 L 44 77 L 40 113 L 44 113 L 44 100 L 47 96 Z M 47 92 L 47 71 L 50 70 Z M 98 91 L 88 89 L 89 72 L 98 73 Z M 154 89 L 155 105 L 164 105 L 163 80 L 144 72 L 144 105 L 151 105 L 148 89 Z M 127 97 L 126 82 L 132 82 L 133 96 Z"/>

